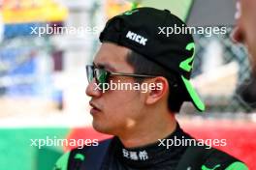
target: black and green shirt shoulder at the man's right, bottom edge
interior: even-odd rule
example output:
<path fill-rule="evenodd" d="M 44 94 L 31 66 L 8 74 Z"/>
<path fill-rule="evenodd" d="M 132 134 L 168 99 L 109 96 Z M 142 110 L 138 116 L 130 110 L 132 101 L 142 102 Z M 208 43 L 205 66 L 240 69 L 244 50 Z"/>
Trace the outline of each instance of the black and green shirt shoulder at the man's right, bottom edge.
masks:
<path fill-rule="evenodd" d="M 248 170 L 248 167 L 234 156 L 230 156 L 217 149 L 211 149 L 210 154 L 206 157 L 205 163 L 202 165 L 202 170 L 214 169 Z"/>

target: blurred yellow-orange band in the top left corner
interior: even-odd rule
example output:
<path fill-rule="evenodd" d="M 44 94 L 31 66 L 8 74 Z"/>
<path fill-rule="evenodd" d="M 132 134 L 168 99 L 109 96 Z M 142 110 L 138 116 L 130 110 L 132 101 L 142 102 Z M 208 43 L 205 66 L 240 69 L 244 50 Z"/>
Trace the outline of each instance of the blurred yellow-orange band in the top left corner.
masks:
<path fill-rule="evenodd" d="M 67 8 L 53 0 L 4 0 L 2 5 L 5 23 L 62 21 Z"/>

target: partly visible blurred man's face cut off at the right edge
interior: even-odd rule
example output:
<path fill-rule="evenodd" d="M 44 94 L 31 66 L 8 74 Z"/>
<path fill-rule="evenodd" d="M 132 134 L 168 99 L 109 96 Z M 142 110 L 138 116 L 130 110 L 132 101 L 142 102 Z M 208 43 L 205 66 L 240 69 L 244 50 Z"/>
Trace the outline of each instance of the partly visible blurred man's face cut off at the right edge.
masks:
<path fill-rule="evenodd" d="M 238 93 L 249 106 L 256 108 L 256 1 L 241 0 L 237 7 L 233 40 L 246 45 L 252 70 L 251 79 L 243 82 Z"/>

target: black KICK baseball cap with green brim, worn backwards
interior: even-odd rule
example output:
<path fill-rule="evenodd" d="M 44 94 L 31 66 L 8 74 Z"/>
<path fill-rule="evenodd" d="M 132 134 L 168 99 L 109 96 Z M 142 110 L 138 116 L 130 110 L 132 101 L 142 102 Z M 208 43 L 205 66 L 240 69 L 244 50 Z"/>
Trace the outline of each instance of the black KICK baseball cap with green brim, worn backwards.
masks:
<path fill-rule="evenodd" d="M 174 28 L 183 29 L 170 34 Z M 176 72 L 187 92 L 187 100 L 199 111 L 205 104 L 190 83 L 195 43 L 185 32 L 186 24 L 168 10 L 137 8 L 112 17 L 100 35 L 101 42 L 128 47 L 168 71 Z M 169 34 L 168 34 L 169 33 Z"/>

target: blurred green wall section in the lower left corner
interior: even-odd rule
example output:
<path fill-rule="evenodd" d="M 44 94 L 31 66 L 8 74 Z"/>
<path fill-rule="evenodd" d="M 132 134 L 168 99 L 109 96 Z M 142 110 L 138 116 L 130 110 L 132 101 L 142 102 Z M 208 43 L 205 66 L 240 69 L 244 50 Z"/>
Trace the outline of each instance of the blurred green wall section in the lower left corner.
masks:
<path fill-rule="evenodd" d="M 50 164 L 56 160 L 58 152 L 52 152 L 52 148 L 51 151 L 39 151 L 31 146 L 30 139 L 65 138 L 68 132 L 69 128 L 0 128 L 0 170 L 39 170 L 38 158 L 42 156 Z M 55 150 L 61 152 L 62 148 L 55 147 Z M 45 166 L 40 168 L 51 170 L 47 169 L 47 164 Z"/>

